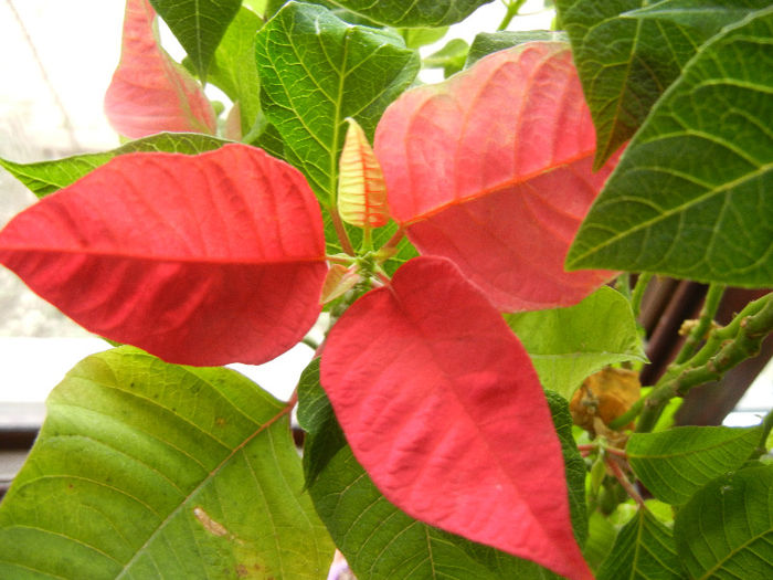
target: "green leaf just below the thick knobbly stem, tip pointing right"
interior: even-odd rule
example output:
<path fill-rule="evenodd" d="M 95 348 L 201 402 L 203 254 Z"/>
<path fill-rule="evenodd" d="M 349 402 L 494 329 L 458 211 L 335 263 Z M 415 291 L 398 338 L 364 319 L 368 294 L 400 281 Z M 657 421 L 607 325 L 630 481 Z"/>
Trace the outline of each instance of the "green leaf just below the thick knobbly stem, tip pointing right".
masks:
<path fill-rule="evenodd" d="M 760 426 L 678 426 L 633 433 L 626 453 L 647 489 L 678 506 L 714 477 L 743 465 L 761 435 Z"/>

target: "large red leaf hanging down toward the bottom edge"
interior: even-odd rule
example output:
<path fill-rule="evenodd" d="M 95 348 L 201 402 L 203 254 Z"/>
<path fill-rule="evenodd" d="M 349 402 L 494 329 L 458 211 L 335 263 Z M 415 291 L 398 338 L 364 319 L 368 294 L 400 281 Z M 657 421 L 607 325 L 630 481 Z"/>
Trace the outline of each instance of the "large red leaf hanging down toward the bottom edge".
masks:
<path fill-rule="evenodd" d="M 561 445 L 520 341 L 442 257 L 419 257 L 331 330 L 321 382 L 384 496 L 431 525 L 592 578 Z"/>

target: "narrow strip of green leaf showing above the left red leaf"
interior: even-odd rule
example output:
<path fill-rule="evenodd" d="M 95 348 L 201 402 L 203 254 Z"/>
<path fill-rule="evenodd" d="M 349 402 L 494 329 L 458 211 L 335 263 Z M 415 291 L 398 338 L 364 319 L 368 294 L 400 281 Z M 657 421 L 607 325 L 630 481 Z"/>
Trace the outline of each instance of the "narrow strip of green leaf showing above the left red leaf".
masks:
<path fill-rule="evenodd" d="M 85 154 L 53 161 L 17 164 L 0 159 L 0 166 L 39 198 L 74 183 L 116 156 L 135 151 L 169 151 L 195 155 L 216 149 L 227 141 L 193 133 L 159 133 L 102 154 Z"/>

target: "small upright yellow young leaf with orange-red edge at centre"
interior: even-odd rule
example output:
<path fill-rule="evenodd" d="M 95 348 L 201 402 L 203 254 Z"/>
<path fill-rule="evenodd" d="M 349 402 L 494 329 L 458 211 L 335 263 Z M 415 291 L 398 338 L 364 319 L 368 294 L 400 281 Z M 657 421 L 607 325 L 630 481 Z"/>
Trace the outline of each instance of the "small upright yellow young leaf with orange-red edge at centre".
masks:
<path fill-rule="evenodd" d="M 380 228 L 389 221 L 384 176 L 362 128 L 354 119 L 347 120 L 339 160 L 338 212 L 351 225 Z"/>

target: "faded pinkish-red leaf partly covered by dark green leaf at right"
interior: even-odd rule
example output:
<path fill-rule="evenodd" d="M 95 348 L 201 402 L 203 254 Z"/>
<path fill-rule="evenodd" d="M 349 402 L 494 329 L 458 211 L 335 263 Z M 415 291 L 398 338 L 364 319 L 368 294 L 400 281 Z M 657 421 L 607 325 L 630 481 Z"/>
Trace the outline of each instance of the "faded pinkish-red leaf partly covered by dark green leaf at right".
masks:
<path fill-rule="evenodd" d="M 560 42 L 521 44 L 407 91 L 375 134 L 392 217 L 421 253 L 452 259 L 509 312 L 575 304 L 613 275 L 563 270 L 616 164 L 593 173 L 594 151 Z"/>

